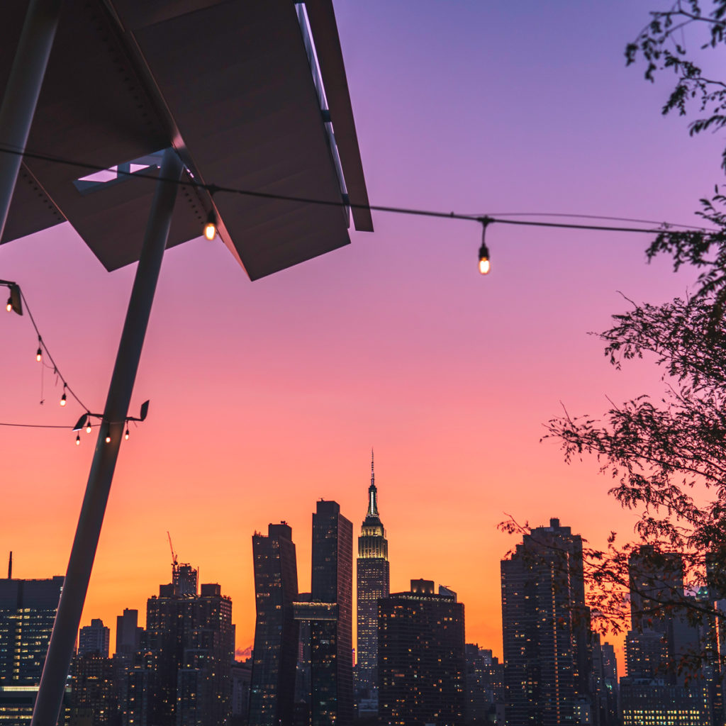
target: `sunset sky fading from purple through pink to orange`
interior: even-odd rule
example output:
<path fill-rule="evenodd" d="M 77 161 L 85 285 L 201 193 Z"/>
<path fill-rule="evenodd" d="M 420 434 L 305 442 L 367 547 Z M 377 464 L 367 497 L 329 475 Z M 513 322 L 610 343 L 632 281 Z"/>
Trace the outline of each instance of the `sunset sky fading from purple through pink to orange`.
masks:
<path fill-rule="evenodd" d="M 722 181 L 723 140 L 663 118 L 671 78 L 643 80 L 624 46 L 654 0 L 582 3 L 335 1 L 370 200 L 463 213 L 583 213 L 694 224 Z M 52 149 L 46 150 L 52 152 Z M 213 180 L 212 180 L 213 181 Z M 559 517 L 594 545 L 632 534 L 586 460 L 566 465 L 542 424 L 600 415 L 661 384 L 653 362 L 613 370 L 589 331 L 637 301 L 683 295 L 693 272 L 645 263 L 644 234 L 374 213 L 375 233 L 250 283 L 200 237 L 164 259 L 82 624 L 110 627 L 179 560 L 233 600 L 237 648 L 253 642 L 251 537 L 293 528 L 310 584 L 311 513 L 335 499 L 354 523 L 375 447 L 391 590 L 446 584 L 466 638 L 501 656 L 499 560 Z M 68 224 L 0 248 L 65 378 L 105 401 L 134 266 L 107 273 Z M 0 314 L 0 422 L 73 425 L 62 386 L 35 362 L 27 317 Z M 0 429 L 0 554 L 13 574 L 64 574 L 95 434 Z M 113 650 L 113 632 L 112 632 Z"/>

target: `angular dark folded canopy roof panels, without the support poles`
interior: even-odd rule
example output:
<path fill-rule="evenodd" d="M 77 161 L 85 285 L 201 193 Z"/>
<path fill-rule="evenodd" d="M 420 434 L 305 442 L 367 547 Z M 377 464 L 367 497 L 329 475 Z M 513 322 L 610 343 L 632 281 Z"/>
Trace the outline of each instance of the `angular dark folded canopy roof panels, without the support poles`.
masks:
<path fill-rule="evenodd" d="M 27 7 L 3 2 L 0 88 Z M 168 247 L 213 211 L 257 280 L 372 231 L 331 0 L 65 0 L 27 149 L 94 166 L 26 156 L 0 243 L 67 220 L 106 269 L 138 260 L 155 182 L 76 181 L 167 147 L 187 180 L 340 204 L 181 187 Z"/>

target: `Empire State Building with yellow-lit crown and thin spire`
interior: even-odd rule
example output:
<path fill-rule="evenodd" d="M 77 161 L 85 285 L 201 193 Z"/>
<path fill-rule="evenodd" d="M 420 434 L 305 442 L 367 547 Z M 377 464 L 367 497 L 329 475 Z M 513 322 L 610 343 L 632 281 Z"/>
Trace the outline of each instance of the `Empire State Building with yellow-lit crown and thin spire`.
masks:
<path fill-rule="evenodd" d="M 357 562 L 358 652 L 356 686 L 359 690 L 378 688 L 378 598 L 391 592 L 388 571 L 388 540 L 378 516 L 378 489 L 375 486 L 373 452 L 370 453 L 368 511 L 358 538 Z"/>

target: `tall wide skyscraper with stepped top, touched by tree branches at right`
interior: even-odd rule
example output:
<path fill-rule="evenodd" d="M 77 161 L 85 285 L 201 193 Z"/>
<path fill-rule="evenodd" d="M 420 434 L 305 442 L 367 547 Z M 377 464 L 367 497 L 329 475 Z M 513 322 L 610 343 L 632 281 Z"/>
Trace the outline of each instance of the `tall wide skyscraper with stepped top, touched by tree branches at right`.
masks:
<path fill-rule="evenodd" d="M 551 519 L 502 560 L 507 724 L 579 722 L 590 701 L 582 537 Z"/>

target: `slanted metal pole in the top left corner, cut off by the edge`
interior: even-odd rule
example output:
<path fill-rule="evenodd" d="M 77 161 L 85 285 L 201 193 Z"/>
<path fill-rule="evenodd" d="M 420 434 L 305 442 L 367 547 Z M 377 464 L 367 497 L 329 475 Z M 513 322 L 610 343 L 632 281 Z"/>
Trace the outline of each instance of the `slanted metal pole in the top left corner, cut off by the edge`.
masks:
<path fill-rule="evenodd" d="M 0 107 L 0 146 L 25 151 L 62 0 L 30 0 Z M 0 153 L 0 237 L 15 190 L 20 154 Z"/>

